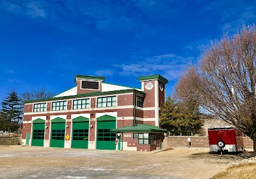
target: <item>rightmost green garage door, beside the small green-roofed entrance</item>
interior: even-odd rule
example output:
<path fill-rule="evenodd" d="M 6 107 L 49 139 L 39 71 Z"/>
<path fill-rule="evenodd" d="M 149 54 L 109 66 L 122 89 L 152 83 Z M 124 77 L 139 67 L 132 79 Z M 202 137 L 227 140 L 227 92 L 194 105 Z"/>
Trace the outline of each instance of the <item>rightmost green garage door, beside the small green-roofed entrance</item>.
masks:
<path fill-rule="evenodd" d="M 116 128 L 116 118 L 109 115 L 97 118 L 97 149 L 115 150 L 116 132 L 110 129 Z"/>

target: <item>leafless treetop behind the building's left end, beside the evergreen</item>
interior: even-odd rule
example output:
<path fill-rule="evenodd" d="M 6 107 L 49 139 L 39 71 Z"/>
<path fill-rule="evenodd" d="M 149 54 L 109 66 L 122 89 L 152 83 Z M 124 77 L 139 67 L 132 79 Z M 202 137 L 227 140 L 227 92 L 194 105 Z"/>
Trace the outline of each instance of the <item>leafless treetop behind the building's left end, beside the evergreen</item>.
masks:
<path fill-rule="evenodd" d="M 48 91 L 45 88 L 33 90 L 31 92 L 23 92 L 20 96 L 23 101 L 30 101 L 36 99 L 50 98 L 55 95 L 54 92 Z"/>

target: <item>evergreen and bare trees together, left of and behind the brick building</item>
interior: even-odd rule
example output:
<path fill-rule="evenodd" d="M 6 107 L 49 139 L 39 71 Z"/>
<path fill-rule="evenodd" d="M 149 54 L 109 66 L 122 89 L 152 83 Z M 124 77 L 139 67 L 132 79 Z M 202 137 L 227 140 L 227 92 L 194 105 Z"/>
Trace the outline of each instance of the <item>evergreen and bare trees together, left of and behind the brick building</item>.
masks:
<path fill-rule="evenodd" d="M 23 101 L 45 99 L 54 95 L 54 92 L 44 88 L 33 90 L 32 92 L 23 92 L 20 95 L 16 90 L 11 90 L 1 102 L 0 131 L 21 131 L 24 113 Z"/>

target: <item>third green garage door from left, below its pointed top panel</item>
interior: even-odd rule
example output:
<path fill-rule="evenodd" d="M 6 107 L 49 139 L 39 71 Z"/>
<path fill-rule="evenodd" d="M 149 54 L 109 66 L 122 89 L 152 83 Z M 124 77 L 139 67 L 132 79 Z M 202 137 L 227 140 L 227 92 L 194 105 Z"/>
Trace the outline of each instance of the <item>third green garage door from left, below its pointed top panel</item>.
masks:
<path fill-rule="evenodd" d="M 88 148 L 89 122 L 73 122 L 72 148 Z"/>

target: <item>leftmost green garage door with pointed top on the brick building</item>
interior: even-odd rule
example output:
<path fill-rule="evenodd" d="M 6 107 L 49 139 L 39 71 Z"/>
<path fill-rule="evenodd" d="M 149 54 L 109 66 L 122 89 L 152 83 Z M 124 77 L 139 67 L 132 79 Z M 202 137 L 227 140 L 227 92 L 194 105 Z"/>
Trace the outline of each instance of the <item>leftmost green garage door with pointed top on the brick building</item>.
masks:
<path fill-rule="evenodd" d="M 32 146 L 44 147 L 45 120 L 37 118 L 33 120 Z"/>

